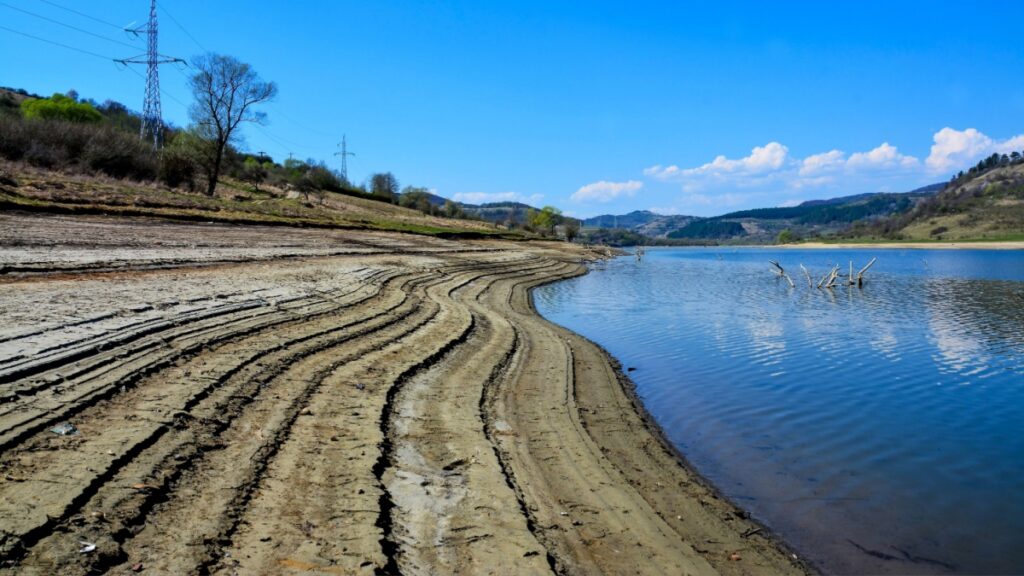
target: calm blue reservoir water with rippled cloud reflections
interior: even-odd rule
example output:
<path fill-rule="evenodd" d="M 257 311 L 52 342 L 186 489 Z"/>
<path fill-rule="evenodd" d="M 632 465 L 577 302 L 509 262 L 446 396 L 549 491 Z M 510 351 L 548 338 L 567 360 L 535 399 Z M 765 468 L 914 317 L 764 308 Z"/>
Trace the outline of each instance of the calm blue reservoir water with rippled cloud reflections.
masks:
<path fill-rule="evenodd" d="M 798 266 L 872 256 L 862 289 Z M 653 249 L 535 300 L 825 572 L 1024 573 L 1024 253 Z"/>

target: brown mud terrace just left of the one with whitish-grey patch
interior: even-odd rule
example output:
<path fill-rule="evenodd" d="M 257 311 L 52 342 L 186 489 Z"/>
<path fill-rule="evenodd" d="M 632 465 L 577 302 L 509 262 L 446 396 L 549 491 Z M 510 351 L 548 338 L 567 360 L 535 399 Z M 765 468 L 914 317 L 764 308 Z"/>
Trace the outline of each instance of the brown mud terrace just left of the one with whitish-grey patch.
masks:
<path fill-rule="evenodd" d="M 389 417 L 394 390 L 401 382 L 464 339 L 460 329 L 445 328 L 458 321 L 458 315 L 443 294 L 496 274 L 505 273 L 490 271 L 429 288 L 429 299 L 445 310 L 450 321 L 434 321 L 433 331 L 425 329 L 408 342 L 392 342 L 377 356 L 360 358 L 329 376 L 309 403 L 310 417 L 299 420 L 293 440 L 270 464 L 266 489 L 231 544 L 229 553 L 240 570 L 273 572 L 281 566 L 316 571 L 333 567 L 344 573 L 395 570 L 388 560 L 389 515 L 381 511 L 390 504 L 375 476 L 387 459 L 387 439 L 378 431 L 387 426 L 375 422 Z M 387 360 L 399 352 L 399 359 Z M 378 455 L 382 447 L 385 453 Z M 315 458 L 348 465 L 323 470 L 309 464 Z"/>

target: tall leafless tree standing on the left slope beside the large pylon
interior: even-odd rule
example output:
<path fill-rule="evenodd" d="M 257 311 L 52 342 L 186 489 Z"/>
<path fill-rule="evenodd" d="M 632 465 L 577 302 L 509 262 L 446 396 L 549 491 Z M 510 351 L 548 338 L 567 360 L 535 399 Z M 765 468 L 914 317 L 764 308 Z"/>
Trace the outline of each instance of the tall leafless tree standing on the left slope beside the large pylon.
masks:
<path fill-rule="evenodd" d="M 253 110 L 278 94 L 273 82 L 263 82 L 248 64 L 231 56 L 208 53 L 193 60 L 196 74 L 189 80 L 196 101 L 189 110 L 197 132 L 209 140 L 207 196 L 213 196 L 220 175 L 224 150 L 243 122 L 262 124 L 266 115 Z"/>

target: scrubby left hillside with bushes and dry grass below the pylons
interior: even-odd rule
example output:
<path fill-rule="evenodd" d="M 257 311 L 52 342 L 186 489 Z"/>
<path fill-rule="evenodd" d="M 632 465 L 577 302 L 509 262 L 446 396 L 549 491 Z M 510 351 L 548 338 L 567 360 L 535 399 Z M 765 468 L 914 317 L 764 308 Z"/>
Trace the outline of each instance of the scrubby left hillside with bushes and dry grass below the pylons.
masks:
<path fill-rule="evenodd" d="M 213 148 L 194 132 L 165 127 L 157 152 L 139 139 L 139 126 L 138 114 L 116 101 L 0 88 L 0 209 L 521 236 L 458 211 L 397 206 L 390 173 L 355 186 L 314 159 L 278 163 L 227 143 L 211 175 Z"/>

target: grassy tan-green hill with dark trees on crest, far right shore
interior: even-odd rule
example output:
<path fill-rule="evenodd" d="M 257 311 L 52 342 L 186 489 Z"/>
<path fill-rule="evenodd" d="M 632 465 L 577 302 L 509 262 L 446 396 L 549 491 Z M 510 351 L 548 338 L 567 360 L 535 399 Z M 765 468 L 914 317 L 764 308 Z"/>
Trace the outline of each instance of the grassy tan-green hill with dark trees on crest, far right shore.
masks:
<path fill-rule="evenodd" d="M 905 212 L 843 236 L 903 240 L 1024 239 L 1024 155 L 993 155 Z"/>

